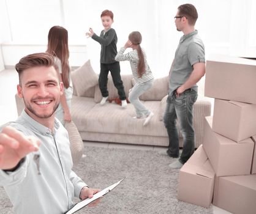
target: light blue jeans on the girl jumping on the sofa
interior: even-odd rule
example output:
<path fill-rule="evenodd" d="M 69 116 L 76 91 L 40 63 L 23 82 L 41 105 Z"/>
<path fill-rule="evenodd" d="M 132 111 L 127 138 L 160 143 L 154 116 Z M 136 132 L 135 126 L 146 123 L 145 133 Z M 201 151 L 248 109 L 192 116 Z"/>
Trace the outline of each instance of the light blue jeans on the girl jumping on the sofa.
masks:
<path fill-rule="evenodd" d="M 153 85 L 154 79 L 149 79 L 146 83 L 136 83 L 129 93 L 129 101 L 134 105 L 137 117 L 147 117 L 150 114 L 149 109 L 141 103 L 140 97 L 146 90 L 150 89 Z"/>

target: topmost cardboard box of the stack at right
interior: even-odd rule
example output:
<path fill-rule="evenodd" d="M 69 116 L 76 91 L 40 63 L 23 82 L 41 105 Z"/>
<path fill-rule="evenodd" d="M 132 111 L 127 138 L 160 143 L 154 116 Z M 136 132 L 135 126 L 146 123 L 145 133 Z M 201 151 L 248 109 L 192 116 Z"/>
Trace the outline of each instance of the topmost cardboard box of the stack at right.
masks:
<path fill-rule="evenodd" d="M 255 60 L 211 55 L 206 61 L 206 97 L 256 104 L 255 80 Z"/>

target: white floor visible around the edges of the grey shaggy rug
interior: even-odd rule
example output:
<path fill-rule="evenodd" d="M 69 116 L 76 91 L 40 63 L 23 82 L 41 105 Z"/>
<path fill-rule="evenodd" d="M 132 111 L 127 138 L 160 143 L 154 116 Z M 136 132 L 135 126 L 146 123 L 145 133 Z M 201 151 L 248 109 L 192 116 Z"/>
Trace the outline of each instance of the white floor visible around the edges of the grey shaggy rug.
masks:
<path fill-rule="evenodd" d="M 17 118 L 17 110 L 15 104 L 15 94 L 17 92 L 18 73 L 14 69 L 3 70 L 0 72 L 0 125 Z M 113 144 L 104 142 L 85 142 L 88 146 L 99 147 L 122 147 L 129 149 L 141 150 L 165 150 L 164 147 L 156 146 L 136 146 L 127 144 Z M 219 207 L 213 206 L 214 214 L 230 214 Z"/>

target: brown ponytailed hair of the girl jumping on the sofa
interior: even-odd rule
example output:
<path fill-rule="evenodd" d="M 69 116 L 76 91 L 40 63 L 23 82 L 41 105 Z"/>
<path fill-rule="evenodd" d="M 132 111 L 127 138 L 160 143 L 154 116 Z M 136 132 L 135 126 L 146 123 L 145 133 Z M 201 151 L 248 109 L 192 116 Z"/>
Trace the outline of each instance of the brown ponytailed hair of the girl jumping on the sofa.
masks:
<path fill-rule="evenodd" d="M 141 78 L 143 73 L 145 73 L 145 59 L 144 59 L 144 54 L 140 47 L 140 43 L 142 40 L 140 32 L 138 32 L 138 31 L 131 32 L 129 34 L 129 40 L 130 40 L 130 42 L 132 42 L 132 44 L 138 45 L 137 46 L 138 48 L 136 48 L 136 50 L 138 52 L 138 59 L 139 59 L 137 72 L 138 72 L 138 76 Z"/>

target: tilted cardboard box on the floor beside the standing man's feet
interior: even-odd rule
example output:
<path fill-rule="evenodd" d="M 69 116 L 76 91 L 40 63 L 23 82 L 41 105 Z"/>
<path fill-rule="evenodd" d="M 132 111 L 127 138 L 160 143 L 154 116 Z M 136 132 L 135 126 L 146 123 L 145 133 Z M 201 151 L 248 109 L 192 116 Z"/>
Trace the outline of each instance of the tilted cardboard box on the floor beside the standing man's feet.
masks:
<path fill-rule="evenodd" d="M 190 204 L 209 207 L 213 201 L 214 175 L 205 150 L 200 145 L 179 171 L 177 198 Z"/>

